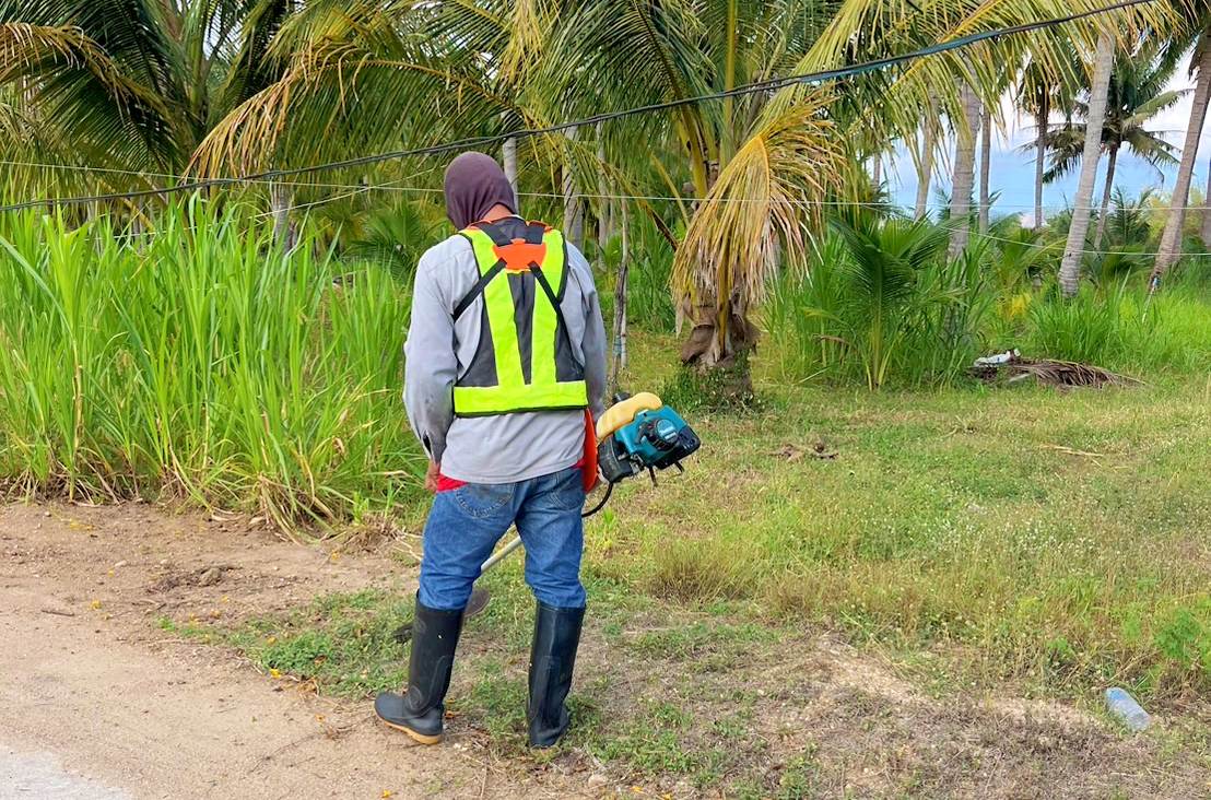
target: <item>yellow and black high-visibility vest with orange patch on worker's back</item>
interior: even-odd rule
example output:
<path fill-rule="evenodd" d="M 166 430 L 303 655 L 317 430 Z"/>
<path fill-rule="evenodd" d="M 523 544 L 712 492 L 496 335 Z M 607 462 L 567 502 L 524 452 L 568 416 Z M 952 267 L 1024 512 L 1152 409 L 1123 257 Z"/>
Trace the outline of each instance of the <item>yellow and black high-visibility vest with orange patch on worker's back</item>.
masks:
<path fill-rule="evenodd" d="M 461 231 L 480 280 L 454 307 L 457 321 L 483 298 L 475 357 L 454 384 L 454 414 L 492 416 L 589 407 L 585 367 L 575 357 L 561 303 L 568 284 L 563 235 L 527 223 L 510 240 L 490 223 Z"/>

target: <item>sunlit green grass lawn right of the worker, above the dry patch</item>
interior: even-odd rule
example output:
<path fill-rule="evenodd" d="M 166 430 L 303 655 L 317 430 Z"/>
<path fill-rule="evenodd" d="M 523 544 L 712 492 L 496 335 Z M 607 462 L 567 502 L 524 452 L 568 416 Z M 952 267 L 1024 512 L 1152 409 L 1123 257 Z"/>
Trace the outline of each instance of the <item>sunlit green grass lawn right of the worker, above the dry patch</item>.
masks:
<path fill-rule="evenodd" d="M 764 395 L 694 419 L 693 474 L 625 488 L 592 570 L 856 640 L 960 645 L 975 674 L 1052 691 L 1211 685 L 1211 376 Z"/>

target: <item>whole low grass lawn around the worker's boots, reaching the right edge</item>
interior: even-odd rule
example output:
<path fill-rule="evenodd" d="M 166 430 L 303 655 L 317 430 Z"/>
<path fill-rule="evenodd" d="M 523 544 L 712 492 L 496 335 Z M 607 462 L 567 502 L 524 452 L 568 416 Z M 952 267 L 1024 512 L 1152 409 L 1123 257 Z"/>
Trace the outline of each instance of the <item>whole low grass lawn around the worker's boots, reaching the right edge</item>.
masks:
<path fill-rule="evenodd" d="M 659 387 L 671 343 L 637 339 L 627 387 Z M 769 723 L 803 702 L 781 677 L 805 680 L 797 660 L 820 635 L 877 651 L 931 697 L 1096 710 L 1101 689 L 1121 684 L 1175 720 L 1205 715 L 1211 379 L 1069 392 L 767 385 L 761 396 L 757 410 L 687 410 L 705 442 L 687 474 L 631 482 L 589 524 L 579 723 L 558 753 L 729 796 L 827 794 L 850 756 Z M 523 754 L 532 602 L 521 559 L 486 582 L 494 599 L 469 625 L 450 708 L 498 753 L 541 766 L 559 755 Z M 365 697 L 406 678 L 407 650 L 389 633 L 408 605 L 403 591 L 367 591 L 185 632 L 321 692 Z M 882 730 L 895 718 L 882 702 L 855 690 L 817 713 Z M 1200 727 L 1180 724 L 1158 747 L 1173 759 L 1194 747 L 1211 769 Z M 958 790 L 960 773 L 930 758 L 895 767 L 896 790 Z"/>

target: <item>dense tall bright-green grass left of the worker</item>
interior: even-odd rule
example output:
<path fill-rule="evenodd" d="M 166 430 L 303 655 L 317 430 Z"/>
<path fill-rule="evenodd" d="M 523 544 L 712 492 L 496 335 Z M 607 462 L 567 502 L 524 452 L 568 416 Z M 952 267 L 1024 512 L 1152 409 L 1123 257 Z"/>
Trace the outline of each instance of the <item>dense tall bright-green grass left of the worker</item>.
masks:
<path fill-rule="evenodd" d="M 283 526 L 390 506 L 419 459 L 398 398 L 407 295 L 384 266 L 350 269 L 199 198 L 145 241 L 5 217 L 0 479 Z"/>

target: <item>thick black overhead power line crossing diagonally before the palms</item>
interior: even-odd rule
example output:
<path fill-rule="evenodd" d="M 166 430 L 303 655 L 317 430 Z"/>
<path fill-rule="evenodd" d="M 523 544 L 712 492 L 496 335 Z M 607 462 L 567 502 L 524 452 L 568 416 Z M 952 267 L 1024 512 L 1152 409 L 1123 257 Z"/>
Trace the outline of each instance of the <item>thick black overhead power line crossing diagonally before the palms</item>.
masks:
<path fill-rule="evenodd" d="M 839 67 L 837 69 L 821 70 L 816 73 L 805 73 L 799 75 L 774 77 L 765 81 L 746 84 L 744 86 L 737 86 L 735 88 L 723 92 L 698 94 L 695 97 L 685 97 L 676 100 L 665 100 L 661 103 L 649 103 L 647 105 L 637 105 L 635 108 L 622 109 L 618 111 L 606 111 L 603 114 L 597 114 L 580 120 L 559 122 L 556 125 L 549 125 L 540 128 L 522 128 L 518 131 L 510 131 L 507 133 L 500 133 L 494 136 L 474 137 L 469 139 L 446 142 L 442 144 L 434 144 L 423 148 L 411 148 L 406 150 L 394 150 L 390 152 L 378 152 L 374 155 L 356 156 L 342 161 L 328 161 L 325 163 L 309 165 L 304 167 L 291 167 L 286 169 L 265 169 L 263 172 L 256 172 L 251 174 L 236 175 L 230 178 L 205 178 L 200 180 L 190 180 L 190 182 L 178 183 L 172 186 L 161 186 L 155 189 L 139 189 L 133 191 L 108 192 L 108 194 L 86 195 L 75 197 L 44 197 L 40 200 L 25 200 L 17 203 L 8 203 L 6 206 L 0 206 L 0 212 L 21 211 L 24 208 L 36 208 L 39 206 L 79 206 L 84 203 L 110 202 L 117 200 L 138 200 L 142 197 L 173 195 L 186 191 L 196 191 L 200 189 L 213 189 L 222 186 L 240 185 L 245 183 L 277 182 L 281 178 L 287 178 L 292 175 L 304 175 L 304 174 L 314 174 L 316 172 L 328 172 L 333 169 L 363 167 L 374 163 L 381 163 L 384 161 L 394 161 L 397 159 L 406 159 L 411 156 L 440 155 L 442 152 L 450 152 L 454 150 L 466 150 L 469 148 L 481 148 L 489 144 L 497 144 L 506 139 L 524 139 L 536 136 L 547 136 L 551 133 L 559 133 L 562 131 L 568 131 L 579 126 L 592 126 L 599 122 L 612 122 L 614 120 L 621 120 L 639 114 L 665 111 L 665 110 L 683 108 L 685 105 L 695 105 L 698 103 L 705 103 L 710 100 L 727 99 L 730 97 L 742 97 L 747 94 L 771 92 L 780 88 L 786 88 L 788 86 L 796 86 L 799 84 L 819 84 L 825 81 L 839 80 L 843 77 L 853 77 L 856 75 L 863 75 L 866 73 L 886 69 L 888 67 L 895 67 L 899 64 L 913 62 L 919 58 L 937 56 L 963 47 L 970 47 L 971 45 L 982 41 L 989 41 L 994 39 L 1001 39 L 1005 36 L 1015 36 L 1018 34 L 1057 28 L 1060 25 L 1066 25 L 1081 19 L 1087 19 L 1091 17 L 1112 13 L 1114 11 L 1125 11 L 1127 8 L 1149 5 L 1157 1 L 1158 0 L 1121 0 L 1120 2 L 1115 2 L 1104 6 L 1102 8 L 1094 8 L 1090 11 L 1081 11 L 1078 13 L 1067 15 L 1063 17 L 1040 19 L 1039 22 L 1031 22 L 1006 28 L 995 28 L 993 30 L 985 30 L 982 33 L 970 34 L 968 36 L 960 36 L 958 39 L 939 42 L 936 45 L 930 45 L 929 47 L 923 47 L 920 50 L 914 50 L 912 52 L 902 53 L 899 56 L 888 56 L 885 58 L 877 58 L 874 61 L 862 62 L 860 64 L 851 64 L 849 67 Z"/>

